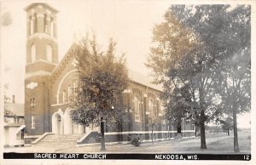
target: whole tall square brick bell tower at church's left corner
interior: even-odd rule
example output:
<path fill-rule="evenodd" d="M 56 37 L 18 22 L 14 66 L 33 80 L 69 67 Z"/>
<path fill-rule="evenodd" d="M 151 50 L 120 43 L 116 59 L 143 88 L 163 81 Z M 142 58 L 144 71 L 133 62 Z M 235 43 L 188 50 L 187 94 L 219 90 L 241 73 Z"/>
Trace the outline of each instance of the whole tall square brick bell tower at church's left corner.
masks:
<path fill-rule="evenodd" d="M 49 77 L 58 63 L 56 14 L 47 3 L 26 7 L 26 135 L 49 132 Z"/>

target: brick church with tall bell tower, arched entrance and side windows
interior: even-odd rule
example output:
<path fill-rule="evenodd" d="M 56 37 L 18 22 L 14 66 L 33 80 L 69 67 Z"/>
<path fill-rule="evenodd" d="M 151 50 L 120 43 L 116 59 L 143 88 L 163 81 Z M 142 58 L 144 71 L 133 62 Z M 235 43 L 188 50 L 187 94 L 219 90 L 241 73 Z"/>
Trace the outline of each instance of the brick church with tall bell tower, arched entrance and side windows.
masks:
<path fill-rule="evenodd" d="M 25 78 L 25 139 L 26 143 L 45 138 L 48 134 L 81 134 L 78 144 L 98 141 L 99 128 L 75 124 L 70 116 L 70 96 L 78 82 L 73 44 L 63 59 L 58 58 L 57 14 L 46 3 L 26 7 L 26 78 Z M 130 111 L 130 122 L 123 123 L 122 132 L 109 128 L 106 142 L 129 141 L 132 134 L 143 140 L 170 139 L 177 127 L 164 120 L 160 100 L 161 88 L 151 84 L 148 77 L 129 71 L 130 83 L 123 93 L 124 105 Z M 149 116 L 158 123 L 150 127 Z M 128 127 L 129 126 L 129 127 Z M 154 129 L 154 134 L 152 130 Z M 183 136 L 194 136 L 195 127 L 182 122 Z M 94 135 L 93 135 L 94 134 Z M 90 137 L 90 138 L 89 138 Z"/>

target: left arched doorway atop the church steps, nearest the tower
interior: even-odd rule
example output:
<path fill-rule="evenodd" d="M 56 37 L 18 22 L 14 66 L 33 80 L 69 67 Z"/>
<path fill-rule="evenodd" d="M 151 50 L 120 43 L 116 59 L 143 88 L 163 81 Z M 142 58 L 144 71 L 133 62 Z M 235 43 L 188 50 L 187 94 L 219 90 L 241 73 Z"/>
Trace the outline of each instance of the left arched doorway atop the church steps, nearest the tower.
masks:
<path fill-rule="evenodd" d="M 62 134 L 62 115 L 57 111 L 52 115 L 52 132 Z"/>

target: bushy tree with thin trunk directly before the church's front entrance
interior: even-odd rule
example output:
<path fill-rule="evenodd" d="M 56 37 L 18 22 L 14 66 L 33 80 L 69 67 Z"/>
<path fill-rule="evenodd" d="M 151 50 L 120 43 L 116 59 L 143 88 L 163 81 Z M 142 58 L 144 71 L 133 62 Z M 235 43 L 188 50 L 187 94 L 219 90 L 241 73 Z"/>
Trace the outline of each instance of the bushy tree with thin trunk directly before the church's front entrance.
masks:
<path fill-rule="evenodd" d="M 76 49 L 79 85 L 73 101 L 73 121 L 84 126 L 100 122 L 123 122 L 122 93 L 128 86 L 124 55 L 114 56 L 116 43 L 110 40 L 107 51 L 99 51 L 96 37 L 84 37 Z M 104 128 L 101 125 L 104 145 Z M 103 146 L 104 148 L 104 146 Z"/>

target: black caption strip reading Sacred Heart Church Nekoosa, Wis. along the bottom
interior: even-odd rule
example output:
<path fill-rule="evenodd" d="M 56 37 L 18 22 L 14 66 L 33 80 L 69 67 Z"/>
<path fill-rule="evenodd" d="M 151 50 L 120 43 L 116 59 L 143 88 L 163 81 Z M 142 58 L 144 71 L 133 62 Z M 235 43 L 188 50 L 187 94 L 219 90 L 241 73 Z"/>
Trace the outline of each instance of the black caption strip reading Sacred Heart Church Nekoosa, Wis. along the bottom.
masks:
<path fill-rule="evenodd" d="M 140 159 L 250 161 L 251 154 L 104 154 L 104 153 L 3 153 L 4 159 Z"/>

